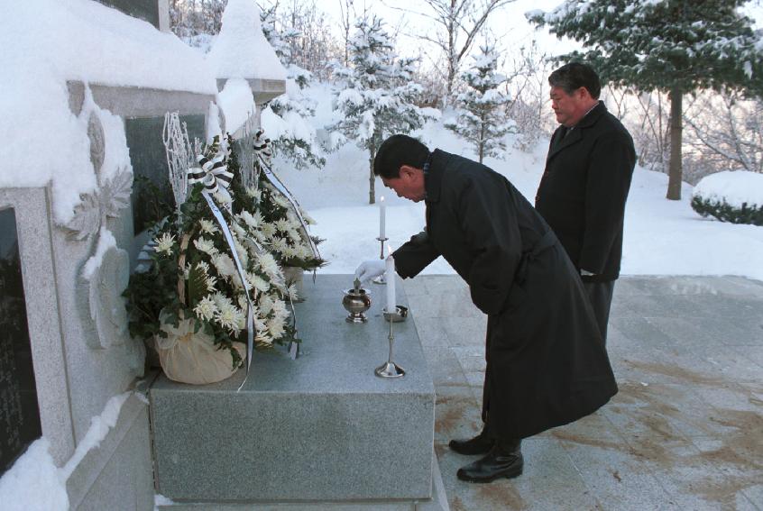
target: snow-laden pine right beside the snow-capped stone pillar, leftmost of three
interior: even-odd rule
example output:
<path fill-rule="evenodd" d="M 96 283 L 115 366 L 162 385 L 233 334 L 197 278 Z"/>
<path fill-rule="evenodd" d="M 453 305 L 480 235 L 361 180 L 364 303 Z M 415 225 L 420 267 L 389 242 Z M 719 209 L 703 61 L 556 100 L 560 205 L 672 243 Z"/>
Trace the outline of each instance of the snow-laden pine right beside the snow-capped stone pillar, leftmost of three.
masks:
<path fill-rule="evenodd" d="M 290 41 L 299 38 L 299 31 L 276 27 L 276 7 L 262 10 L 262 33 L 271 43 L 280 63 L 286 68 L 286 94 L 272 99 L 262 109 L 262 124 L 274 141 L 273 151 L 294 162 L 297 169 L 321 168 L 326 164 L 324 150 L 309 119 L 316 114 L 315 101 L 303 92 L 312 75 L 294 63 Z"/>

